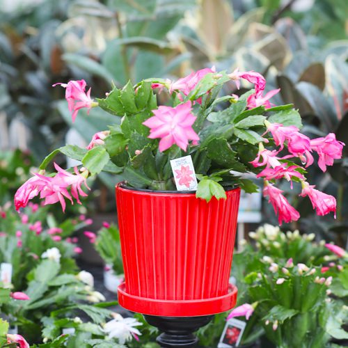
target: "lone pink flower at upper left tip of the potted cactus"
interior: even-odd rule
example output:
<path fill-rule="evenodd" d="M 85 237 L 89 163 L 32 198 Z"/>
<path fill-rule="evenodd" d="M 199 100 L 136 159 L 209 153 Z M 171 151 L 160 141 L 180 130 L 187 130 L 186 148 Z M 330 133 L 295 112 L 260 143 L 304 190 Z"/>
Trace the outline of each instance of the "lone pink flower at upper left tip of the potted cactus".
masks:
<path fill-rule="evenodd" d="M 90 89 L 87 91 L 87 93 L 85 92 L 85 80 L 69 81 L 68 84 L 58 82 L 53 86 L 55 87 L 57 85 L 61 85 L 63 88 L 65 88 L 65 99 L 68 102 L 68 108 L 72 114 L 72 122 L 75 121 L 79 109 L 87 108 L 89 113 L 90 108 L 97 105 L 97 103 L 93 102 L 93 100 L 90 98 Z"/>

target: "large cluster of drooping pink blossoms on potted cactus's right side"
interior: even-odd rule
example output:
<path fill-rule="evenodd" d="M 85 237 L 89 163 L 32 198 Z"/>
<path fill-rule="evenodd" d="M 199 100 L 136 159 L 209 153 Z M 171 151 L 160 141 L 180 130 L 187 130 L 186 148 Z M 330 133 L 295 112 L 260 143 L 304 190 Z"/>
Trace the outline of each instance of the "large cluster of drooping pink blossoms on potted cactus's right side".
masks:
<path fill-rule="evenodd" d="M 301 134 L 299 129 L 294 126 L 283 126 L 279 123 L 270 123 L 268 121 L 265 121 L 265 125 L 267 127 L 266 133 L 271 133 L 275 144 L 280 148 L 279 150 L 271 151 L 265 149 L 262 143 L 260 143 L 258 155 L 251 161 L 251 164 L 254 167 L 264 166 L 264 169 L 257 176 L 264 178 L 263 194 L 269 198 L 274 211 L 278 214 L 279 223 L 296 221 L 299 219 L 300 214 L 283 196 L 283 191 L 274 187 L 273 184 L 269 183 L 269 180 L 285 178 L 291 181 L 293 177 L 296 177 L 302 184 L 300 196 L 308 196 L 310 198 L 317 215 L 323 216 L 329 214 L 329 212 L 335 213 L 335 198 L 315 189 L 315 185 L 308 184 L 306 177 L 301 173 L 301 169 L 303 169 L 301 166 L 288 166 L 282 160 L 298 157 L 308 167 L 314 161 L 312 152 L 317 152 L 319 168 L 325 172 L 326 166 L 332 166 L 334 159 L 342 157 L 342 148 L 345 144 L 342 141 L 337 141 L 333 133 L 322 138 L 310 139 L 308 136 Z M 287 145 L 290 155 L 278 157 L 280 150 L 283 150 L 285 145 Z"/>

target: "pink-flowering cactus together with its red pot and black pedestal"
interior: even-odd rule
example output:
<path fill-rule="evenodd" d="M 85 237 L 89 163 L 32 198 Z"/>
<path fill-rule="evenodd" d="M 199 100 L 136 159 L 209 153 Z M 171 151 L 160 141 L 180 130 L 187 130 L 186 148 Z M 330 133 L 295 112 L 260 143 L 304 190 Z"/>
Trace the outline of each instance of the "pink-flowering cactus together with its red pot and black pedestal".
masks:
<path fill-rule="evenodd" d="M 224 84 L 239 86 L 241 79 L 253 90 L 240 97 L 223 95 Z M 205 68 L 177 81 L 114 86 L 97 100 L 90 88 L 86 92 L 84 80 L 59 85 L 73 121 L 79 109 L 100 106 L 115 123 L 95 134 L 86 149 L 66 145 L 47 156 L 15 194 L 15 206 L 40 195 L 45 204 L 59 201 L 65 209 L 65 198 L 81 203 L 80 196 L 87 195 L 82 187 L 88 189 L 89 176 L 113 173 L 125 267 L 119 301 L 167 331 L 163 340 L 172 340 L 175 317 L 191 317 L 177 330 L 183 332 L 180 344 L 193 344 L 190 331 L 235 305 L 237 289 L 228 279 L 239 191 L 257 189 L 242 173 L 264 178 L 263 194 L 279 223 L 299 219 L 274 185 L 282 178 L 301 184 L 300 196 L 310 198 L 317 214 L 335 212 L 335 198 L 306 181 L 306 167 L 317 153 L 326 171 L 341 157 L 344 144 L 334 134 L 318 139 L 301 134 L 299 113 L 291 104 L 272 107 L 269 99 L 278 90 L 265 93 L 266 81 L 258 72 Z M 155 90 L 165 93 L 166 105 L 157 105 Z M 54 164 L 56 175 L 47 175 L 45 168 L 58 152 L 82 166 L 65 171 Z M 171 342 L 161 344 L 170 347 Z"/>

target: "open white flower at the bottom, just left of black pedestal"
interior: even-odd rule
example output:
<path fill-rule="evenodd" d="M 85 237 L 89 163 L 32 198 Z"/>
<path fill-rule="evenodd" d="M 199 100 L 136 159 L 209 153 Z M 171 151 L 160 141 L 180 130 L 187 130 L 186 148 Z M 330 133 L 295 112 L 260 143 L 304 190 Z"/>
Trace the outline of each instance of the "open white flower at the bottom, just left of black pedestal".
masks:
<path fill-rule="evenodd" d="M 142 325 L 134 318 L 122 318 L 121 315 L 116 319 L 107 322 L 104 326 L 104 332 L 108 335 L 108 338 L 117 338 L 120 345 L 124 345 L 125 342 L 132 340 L 132 335 L 136 338 L 136 335 L 141 335 L 141 332 L 134 326 Z"/>

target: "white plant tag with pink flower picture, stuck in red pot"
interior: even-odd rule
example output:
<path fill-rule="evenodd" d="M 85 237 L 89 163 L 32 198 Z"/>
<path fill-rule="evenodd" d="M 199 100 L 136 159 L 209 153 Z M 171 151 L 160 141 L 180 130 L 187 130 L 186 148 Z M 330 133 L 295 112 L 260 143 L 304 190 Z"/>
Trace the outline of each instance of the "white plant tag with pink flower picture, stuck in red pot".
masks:
<path fill-rule="evenodd" d="M 196 191 L 197 179 L 191 156 L 171 160 L 177 191 Z"/>

